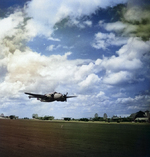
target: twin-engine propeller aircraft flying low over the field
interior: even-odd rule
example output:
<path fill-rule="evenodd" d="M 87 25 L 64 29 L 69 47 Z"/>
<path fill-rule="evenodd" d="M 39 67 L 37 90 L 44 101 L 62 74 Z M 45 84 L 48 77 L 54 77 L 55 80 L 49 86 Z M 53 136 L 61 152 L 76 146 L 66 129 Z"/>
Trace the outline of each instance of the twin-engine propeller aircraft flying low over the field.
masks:
<path fill-rule="evenodd" d="M 25 93 L 29 95 L 30 98 L 37 98 L 37 100 L 40 100 L 41 102 L 52 102 L 52 101 L 67 101 L 67 98 L 73 98 L 77 96 L 67 96 L 68 93 L 66 94 L 61 94 L 57 92 L 53 92 L 51 94 L 32 94 L 32 93 Z"/>

